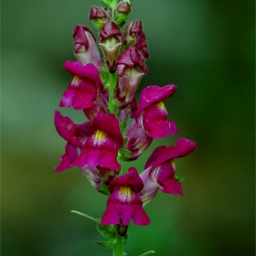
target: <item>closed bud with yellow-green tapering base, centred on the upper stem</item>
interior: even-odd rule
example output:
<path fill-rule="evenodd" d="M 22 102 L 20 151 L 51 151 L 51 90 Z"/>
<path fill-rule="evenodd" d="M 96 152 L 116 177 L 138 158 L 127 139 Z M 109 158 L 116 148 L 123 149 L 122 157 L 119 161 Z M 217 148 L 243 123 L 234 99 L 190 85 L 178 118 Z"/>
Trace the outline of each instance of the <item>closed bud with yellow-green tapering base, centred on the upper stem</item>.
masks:
<path fill-rule="evenodd" d="M 122 32 L 112 21 L 107 22 L 102 27 L 99 37 L 99 44 L 105 55 L 106 64 L 111 72 L 115 67 L 115 61 L 122 44 Z"/>

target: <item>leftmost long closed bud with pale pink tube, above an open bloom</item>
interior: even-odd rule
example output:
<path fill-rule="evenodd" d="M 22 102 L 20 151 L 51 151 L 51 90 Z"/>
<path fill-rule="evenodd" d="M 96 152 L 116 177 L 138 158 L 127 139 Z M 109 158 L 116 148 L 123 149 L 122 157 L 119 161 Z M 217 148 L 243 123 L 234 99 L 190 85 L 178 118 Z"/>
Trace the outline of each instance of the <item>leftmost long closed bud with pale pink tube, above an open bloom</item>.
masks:
<path fill-rule="evenodd" d="M 74 28 L 74 53 L 82 66 L 91 63 L 97 69 L 102 69 L 101 55 L 96 45 L 96 39 L 91 30 L 79 24 Z"/>

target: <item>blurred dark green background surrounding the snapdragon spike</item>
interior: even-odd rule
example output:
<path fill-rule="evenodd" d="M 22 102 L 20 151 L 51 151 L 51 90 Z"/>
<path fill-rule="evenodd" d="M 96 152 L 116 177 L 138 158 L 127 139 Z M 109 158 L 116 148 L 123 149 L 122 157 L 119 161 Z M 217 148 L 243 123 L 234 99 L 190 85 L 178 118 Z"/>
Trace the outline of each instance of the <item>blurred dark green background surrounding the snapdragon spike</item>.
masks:
<path fill-rule="evenodd" d="M 2 1 L 3 256 L 112 255 L 94 223 L 106 197 L 73 168 L 55 173 L 65 142 L 54 111 L 71 79 L 72 29 L 91 27 L 98 0 Z M 254 254 L 254 1 L 133 1 L 129 21 L 143 20 L 151 58 L 147 85 L 178 86 L 165 101 L 181 132 L 155 141 L 135 165 L 141 172 L 156 145 L 179 136 L 197 150 L 176 161 L 184 197 L 158 193 L 145 210 L 148 227 L 129 228 L 128 255 Z M 82 112 L 61 109 L 76 123 Z"/>

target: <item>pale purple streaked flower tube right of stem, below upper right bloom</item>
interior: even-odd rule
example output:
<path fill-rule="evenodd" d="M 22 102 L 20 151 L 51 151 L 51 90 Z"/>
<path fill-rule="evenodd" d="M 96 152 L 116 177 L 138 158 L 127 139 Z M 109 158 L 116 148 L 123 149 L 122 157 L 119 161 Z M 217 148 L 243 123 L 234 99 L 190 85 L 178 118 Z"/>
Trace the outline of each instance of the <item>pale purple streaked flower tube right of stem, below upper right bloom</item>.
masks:
<path fill-rule="evenodd" d="M 133 153 L 130 160 L 137 159 L 152 143 L 153 138 L 149 137 L 144 129 L 140 127 L 135 121 L 129 126 L 126 133 L 127 144 L 125 149 Z"/>

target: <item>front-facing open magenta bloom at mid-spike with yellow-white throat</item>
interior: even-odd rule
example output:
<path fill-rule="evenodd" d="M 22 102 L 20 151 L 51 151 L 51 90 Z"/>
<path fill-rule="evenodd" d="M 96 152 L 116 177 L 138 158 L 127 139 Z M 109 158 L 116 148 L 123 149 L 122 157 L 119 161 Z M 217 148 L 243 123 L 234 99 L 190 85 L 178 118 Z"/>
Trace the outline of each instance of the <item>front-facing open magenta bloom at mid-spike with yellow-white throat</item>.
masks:
<path fill-rule="evenodd" d="M 89 138 L 73 165 L 79 167 L 88 165 L 90 168 L 100 165 L 119 170 L 121 166 L 116 157 L 123 145 L 123 135 L 120 133 L 119 121 L 115 115 L 101 111 L 87 123 L 86 129 Z"/>

